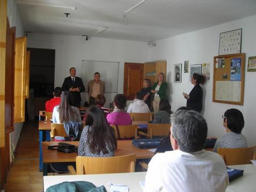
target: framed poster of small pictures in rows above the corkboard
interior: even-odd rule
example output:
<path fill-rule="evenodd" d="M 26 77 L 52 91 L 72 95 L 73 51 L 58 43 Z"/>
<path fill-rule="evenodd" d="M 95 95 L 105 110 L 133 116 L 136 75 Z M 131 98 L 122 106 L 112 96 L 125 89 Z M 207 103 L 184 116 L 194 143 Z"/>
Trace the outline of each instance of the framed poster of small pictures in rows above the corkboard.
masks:
<path fill-rule="evenodd" d="M 219 55 L 241 53 L 242 29 L 220 34 Z"/>

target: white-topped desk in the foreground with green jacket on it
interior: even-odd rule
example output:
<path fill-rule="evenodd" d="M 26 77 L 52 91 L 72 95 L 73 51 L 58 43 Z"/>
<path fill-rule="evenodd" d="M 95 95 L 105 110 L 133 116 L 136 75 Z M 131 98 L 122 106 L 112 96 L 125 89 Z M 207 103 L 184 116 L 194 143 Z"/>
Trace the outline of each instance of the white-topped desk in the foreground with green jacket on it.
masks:
<path fill-rule="evenodd" d="M 229 183 L 229 186 L 226 189 L 227 192 L 255 191 L 256 167 L 254 165 L 232 165 L 229 167 L 244 170 L 244 175 Z M 107 183 L 111 182 L 127 185 L 129 186 L 130 191 L 140 192 L 142 191 L 142 188 L 139 185 L 139 181 L 145 181 L 146 173 L 147 172 L 44 176 L 44 191 L 46 191 L 48 187 L 64 181 L 89 181 L 96 187 L 104 185 L 107 191 L 110 191 Z"/>

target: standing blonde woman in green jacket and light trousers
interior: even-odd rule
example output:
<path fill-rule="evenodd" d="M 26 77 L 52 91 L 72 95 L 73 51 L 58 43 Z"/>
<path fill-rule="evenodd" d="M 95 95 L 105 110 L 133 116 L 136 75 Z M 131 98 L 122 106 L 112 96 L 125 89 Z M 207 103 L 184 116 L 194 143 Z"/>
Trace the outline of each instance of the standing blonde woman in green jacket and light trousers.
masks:
<path fill-rule="evenodd" d="M 154 93 L 153 108 L 155 112 L 159 110 L 160 100 L 163 98 L 167 98 L 166 90 L 167 90 L 167 83 L 164 82 L 164 74 L 159 73 L 157 76 L 157 82 L 154 83 L 151 89 L 151 93 Z"/>

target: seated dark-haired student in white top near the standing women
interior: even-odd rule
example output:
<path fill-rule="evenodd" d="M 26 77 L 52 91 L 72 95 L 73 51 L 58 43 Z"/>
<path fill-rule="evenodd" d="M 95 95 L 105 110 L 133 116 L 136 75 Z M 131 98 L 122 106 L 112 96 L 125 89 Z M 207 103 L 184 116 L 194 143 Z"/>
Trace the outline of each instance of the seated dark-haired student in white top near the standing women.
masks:
<path fill-rule="evenodd" d="M 150 113 L 148 105 L 143 100 L 143 94 L 138 92 L 133 103 L 127 109 L 127 113 Z"/>

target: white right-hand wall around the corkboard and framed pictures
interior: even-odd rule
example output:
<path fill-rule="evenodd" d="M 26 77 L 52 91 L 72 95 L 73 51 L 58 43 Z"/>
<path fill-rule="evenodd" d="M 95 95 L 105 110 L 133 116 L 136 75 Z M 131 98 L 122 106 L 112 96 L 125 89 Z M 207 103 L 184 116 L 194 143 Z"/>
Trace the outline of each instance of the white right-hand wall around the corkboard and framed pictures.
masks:
<path fill-rule="evenodd" d="M 237 108 L 242 111 L 245 119 L 243 134 L 246 136 L 249 145 L 256 145 L 256 125 L 254 123 L 256 107 L 256 73 L 247 72 L 247 60 L 250 56 L 256 55 L 256 15 L 222 25 L 213 26 L 207 29 L 194 31 L 175 37 L 162 39 L 156 42 L 155 47 L 150 47 L 150 60 L 167 60 L 167 81 L 170 83 L 170 101 L 172 110 L 186 106 L 186 100 L 182 92 L 189 93 L 193 88 L 189 81 L 189 73 L 183 73 L 184 61 L 189 60 L 189 65 L 209 62 L 211 63 L 210 82 L 204 85 L 204 110 L 209 126 L 209 136 L 220 137 L 225 133 L 222 126 L 221 115 L 229 108 Z M 242 53 L 246 53 L 246 72 L 244 105 L 228 105 L 212 102 L 213 86 L 213 57 L 218 55 L 219 35 L 221 32 L 242 28 Z M 182 83 L 173 83 L 173 65 L 182 63 Z"/>

